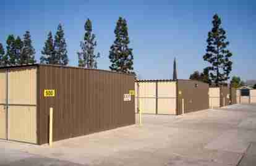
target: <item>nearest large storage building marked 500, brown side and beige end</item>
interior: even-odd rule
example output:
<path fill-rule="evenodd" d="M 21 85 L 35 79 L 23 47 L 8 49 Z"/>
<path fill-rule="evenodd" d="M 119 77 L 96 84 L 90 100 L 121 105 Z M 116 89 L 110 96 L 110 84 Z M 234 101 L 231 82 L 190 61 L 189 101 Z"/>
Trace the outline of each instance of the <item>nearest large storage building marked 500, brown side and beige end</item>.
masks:
<path fill-rule="evenodd" d="M 48 143 L 50 107 L 53 141 L 132 125 L 130 90 L 134 75 L 106 70 L 37 64 L 0 68 L 0 139 Z"/>

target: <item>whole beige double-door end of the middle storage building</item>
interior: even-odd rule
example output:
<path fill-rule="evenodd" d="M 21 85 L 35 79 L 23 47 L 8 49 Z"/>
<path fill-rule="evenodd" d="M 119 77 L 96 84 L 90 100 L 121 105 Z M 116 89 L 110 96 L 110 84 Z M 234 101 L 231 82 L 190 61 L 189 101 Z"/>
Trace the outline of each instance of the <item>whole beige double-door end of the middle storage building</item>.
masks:
<path fill-rule="evenodd" d="M 176 115 L 176 81 L 138 80 L 135 82 L 135 112 Z"/>

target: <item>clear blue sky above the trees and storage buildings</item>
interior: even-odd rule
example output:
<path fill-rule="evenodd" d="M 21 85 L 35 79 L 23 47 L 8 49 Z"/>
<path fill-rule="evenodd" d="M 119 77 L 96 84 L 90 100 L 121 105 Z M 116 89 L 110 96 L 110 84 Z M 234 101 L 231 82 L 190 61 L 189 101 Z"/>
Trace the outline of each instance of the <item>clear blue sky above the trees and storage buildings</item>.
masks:
<path fill-rule="evenodd" d="M 22 36 L 29 30 L 36 59 L 41 56 L 48 32 L 62 23 L 70 65 L 77 65 L 79 42 L 87 18 L 93 22 L 98 68 L 109 66 L 109 47 L 119 16 L 127 20 L 134 68 L 143 79 L 168 79 L 176 57 L 178 78 L 187 79 L 194 70 L 207 66 L 202 59 L 213 14 L 220 15 L 233 52 L 232 75 L 255 79 L 256 2 L 254 1 L 6 1 L 0 6 L 0 43 L 7 35 Z"/>

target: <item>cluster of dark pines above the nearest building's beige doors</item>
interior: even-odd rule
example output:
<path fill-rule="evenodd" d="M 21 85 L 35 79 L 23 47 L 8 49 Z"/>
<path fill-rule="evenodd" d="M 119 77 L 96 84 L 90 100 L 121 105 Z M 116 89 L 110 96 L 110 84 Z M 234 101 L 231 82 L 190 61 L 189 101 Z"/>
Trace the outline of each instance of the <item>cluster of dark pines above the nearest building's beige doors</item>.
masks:
<path fill-rule="evenodd" d="M 26 31 L 23 39 L 9 35 L 6 40 L 6 49 L 0 43 L 0 66 L 34 64 L 35 49 L 32 45 L 30 32 Z"/>

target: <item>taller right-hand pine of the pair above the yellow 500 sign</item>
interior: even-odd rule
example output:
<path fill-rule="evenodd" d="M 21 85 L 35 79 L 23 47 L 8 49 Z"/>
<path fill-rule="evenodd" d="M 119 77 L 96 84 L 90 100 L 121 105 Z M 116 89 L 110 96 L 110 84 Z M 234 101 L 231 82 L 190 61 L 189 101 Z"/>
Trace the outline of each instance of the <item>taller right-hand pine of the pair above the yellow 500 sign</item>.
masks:
<path fill-rule="evenodd" d="M 51 31 L 48 34 L 48 38 L 45 41 L 45 46 L 43 47 L 41 54 L 43 55 L 40 57 L 40 64 L 58 64 L 59 59 L 55 56 L 53 35 Z"/>

